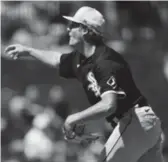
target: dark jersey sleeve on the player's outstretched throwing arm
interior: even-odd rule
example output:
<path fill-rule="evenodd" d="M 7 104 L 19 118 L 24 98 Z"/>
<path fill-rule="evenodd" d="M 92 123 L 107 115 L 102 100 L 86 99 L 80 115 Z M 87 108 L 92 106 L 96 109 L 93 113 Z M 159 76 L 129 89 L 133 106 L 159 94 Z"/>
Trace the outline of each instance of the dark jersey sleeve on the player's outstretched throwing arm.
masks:
<path fill-rule="evenodd" d="M 75 53 L 69 53 L 69 54 L 63 54 L 60 58 L 60 64 L 59 64 L 59 75 L 65 78 L 73 78 L 74 70 L 73 70 L 73 64 L 74 64 L 74 55 Z"/>

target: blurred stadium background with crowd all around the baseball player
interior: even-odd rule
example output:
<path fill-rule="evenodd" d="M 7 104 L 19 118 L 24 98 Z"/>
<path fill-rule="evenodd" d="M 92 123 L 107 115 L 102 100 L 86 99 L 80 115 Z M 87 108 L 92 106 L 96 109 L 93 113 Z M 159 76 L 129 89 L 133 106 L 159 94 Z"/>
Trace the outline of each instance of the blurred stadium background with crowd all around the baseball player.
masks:
<path fill-rule="evenodd" d="M 68 114 L 89 103 L 76 80 L 59 78 L 57 69 L 33 58 L 13 61 L 4 56 L 9 44 L 67 53 L 67 22 L 91 6 L 106 18 L 106 43 L 129 62 L 137 86 L 162 120 L 163 152 L 168 158 L 168 2 L 1 1 L 1 160 L 2 162 L 96 162 L 105 139 L 81 147 L 63 140 Z"/>

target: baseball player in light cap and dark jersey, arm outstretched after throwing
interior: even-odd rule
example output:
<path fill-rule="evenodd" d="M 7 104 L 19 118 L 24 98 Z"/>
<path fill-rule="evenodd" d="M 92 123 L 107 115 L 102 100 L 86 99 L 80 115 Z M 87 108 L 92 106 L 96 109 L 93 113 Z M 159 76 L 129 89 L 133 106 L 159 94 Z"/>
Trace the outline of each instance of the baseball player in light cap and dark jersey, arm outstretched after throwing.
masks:
<path fill-rule="evenodd" d="M 10 45 L 6 55 L 17 59 L 31 55 L 59 68 L 65 78 L 78 79 L 90 107 L 69 115 L 64 123 L 67 139 L 76 136 L 78 123 L 106 118 L 114 127 L 100 162 L 162 162 L 161 123 L 146 98 L 136 87 L 127 62 L 103 43 L 103 15 L 94 8 L 81 7 L 73 17 L 63 16 L 70 24 L 69 54 Z"/>

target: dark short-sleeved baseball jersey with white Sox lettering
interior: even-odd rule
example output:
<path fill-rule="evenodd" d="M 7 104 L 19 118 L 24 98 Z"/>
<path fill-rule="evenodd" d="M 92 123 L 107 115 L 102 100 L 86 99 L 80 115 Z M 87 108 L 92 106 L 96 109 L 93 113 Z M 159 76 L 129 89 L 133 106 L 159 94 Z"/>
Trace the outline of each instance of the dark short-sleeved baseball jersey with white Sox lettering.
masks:
<path fill-rule="evenodd" d="M 61 76 L 77 78 L 82 83 L 92 105 L 100 101 L 105 93 L 117 94 L 117 110 L 107 117 L 108 121 L 130 109 L 141 96 L 126 61 L 105 45 L 97 47 L 89 58 L 77 51 L 63 54 L 59 69 Z"/>

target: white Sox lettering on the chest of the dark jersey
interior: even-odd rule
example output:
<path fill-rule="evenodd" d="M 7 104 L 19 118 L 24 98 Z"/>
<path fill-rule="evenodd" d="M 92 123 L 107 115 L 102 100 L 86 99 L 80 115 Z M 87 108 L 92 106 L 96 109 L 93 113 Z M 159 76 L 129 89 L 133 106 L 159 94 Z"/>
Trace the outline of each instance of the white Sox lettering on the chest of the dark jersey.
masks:
<path fill-rule="evenodd" d="M 93 72 L 90 71 L 87 74 L 87 80 L 90 82 L 90 84 L 88 85 L 88 90 L 91 89 L 94 92 L 95 96 L 100 96 L 100 86 L 98 85 Z"/>

